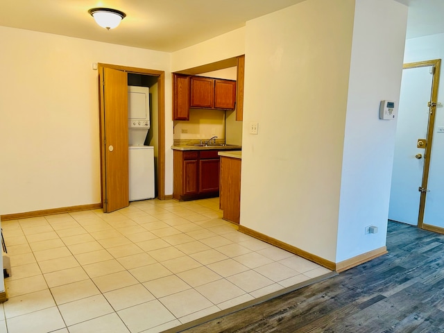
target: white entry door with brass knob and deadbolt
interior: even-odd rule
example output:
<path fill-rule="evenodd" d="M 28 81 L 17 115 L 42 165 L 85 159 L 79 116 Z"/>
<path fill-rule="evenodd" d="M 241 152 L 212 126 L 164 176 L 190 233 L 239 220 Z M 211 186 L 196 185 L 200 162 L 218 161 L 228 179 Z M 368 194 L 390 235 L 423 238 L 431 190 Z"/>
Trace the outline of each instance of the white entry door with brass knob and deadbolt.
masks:
<path fill-rule="evenodd" d="M 428 106 L 434 95 L 434 61 L 404 65 L 388 210 L 388 219 L 420 228 L 427 194 L 436 108 Z M 430 126 L 432 130 L 429 130 Z M 418 148 L 418 139 L 425 139 L 427 144 Z"/>

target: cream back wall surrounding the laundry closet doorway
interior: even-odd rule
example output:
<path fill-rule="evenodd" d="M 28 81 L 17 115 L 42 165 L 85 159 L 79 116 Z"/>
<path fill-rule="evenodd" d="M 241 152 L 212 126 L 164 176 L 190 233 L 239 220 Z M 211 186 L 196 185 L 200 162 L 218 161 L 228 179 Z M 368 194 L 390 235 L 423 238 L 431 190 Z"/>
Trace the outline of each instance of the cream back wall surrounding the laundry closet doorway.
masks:
<path fill-rule="evenodd" d="M 165 191 L 172 194 L 170 53 L 3 26 L 0 36 L 0 214 L 100 202 L 92 62 L 165 71 Z"/>

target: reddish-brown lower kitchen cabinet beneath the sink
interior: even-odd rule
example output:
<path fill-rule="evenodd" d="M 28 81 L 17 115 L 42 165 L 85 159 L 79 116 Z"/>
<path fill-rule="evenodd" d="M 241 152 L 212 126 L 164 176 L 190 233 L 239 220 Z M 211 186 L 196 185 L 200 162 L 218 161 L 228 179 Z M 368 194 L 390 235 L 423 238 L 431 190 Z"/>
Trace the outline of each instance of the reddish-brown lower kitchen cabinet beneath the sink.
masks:
<path fill-rule="evenodd" d="M 173 151 L 173 198 L 219 196 L 218 151 Z"/>

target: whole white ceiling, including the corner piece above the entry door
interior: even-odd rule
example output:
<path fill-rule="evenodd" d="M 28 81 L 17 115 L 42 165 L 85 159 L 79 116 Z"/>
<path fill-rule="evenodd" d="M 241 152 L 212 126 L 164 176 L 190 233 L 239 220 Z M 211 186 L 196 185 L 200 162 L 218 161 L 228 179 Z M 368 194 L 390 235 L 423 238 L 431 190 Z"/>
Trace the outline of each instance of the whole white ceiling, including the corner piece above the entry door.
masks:
<path fill-rule="evenodd" d="M 305 0 L 0 0 L 0 26 L 55 33 L 157 51 L 176 51 L 241 28 Z M 407 38 L 444 33 L 444 0 L 397 0 L 409 6 Z M 89 8 L 126 13 L 107 31 Z"/>

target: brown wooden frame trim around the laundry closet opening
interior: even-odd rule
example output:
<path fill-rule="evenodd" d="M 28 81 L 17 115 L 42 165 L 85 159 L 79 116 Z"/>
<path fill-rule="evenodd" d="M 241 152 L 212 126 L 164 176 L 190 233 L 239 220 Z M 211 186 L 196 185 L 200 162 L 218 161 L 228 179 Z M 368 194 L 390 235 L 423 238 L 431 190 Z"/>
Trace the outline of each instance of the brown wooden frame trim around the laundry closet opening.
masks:
<path fill-rule="evenodd" d="M 157 152 L 157 198 L 160 200 L 165 199 L 165 71 L 158 71 L 155 69 L 146 69 L 146 68 L 139 68 L 139 67 L 128 67 L 128 66 L 121 66 L 121 65 L 112 65 L 112 64 L 104 64 L 99 62 L 97 64 L 98 72 L 101 73 L 103 68 L 111 68 L 111 69 L 118 69 L 121 71 L 126 71 L 128 73 L 133 74 L 144 74 L 149 76 L 157 76 L 157 116 L 158 116 L 158 145 L 159 145 L 159 151 Z M 99 92 L 100 92 L 100 76 L 99 76 Z M 100 103 L 99 99 L 99 117 L 101 114 L 101 108 L 103 105 Z M 103 144 L 102 144 L 102 133 L 103 133 L 103 121 L 100 119 L 100 157 L 102 160 L 102 154 L 103 154 Z M 103 189 L 103 165 L 101 164 L 101 189 Z M 101 203 L 103 207 L 103 191 L 101 191 Z"/>

